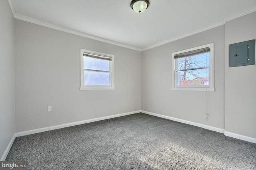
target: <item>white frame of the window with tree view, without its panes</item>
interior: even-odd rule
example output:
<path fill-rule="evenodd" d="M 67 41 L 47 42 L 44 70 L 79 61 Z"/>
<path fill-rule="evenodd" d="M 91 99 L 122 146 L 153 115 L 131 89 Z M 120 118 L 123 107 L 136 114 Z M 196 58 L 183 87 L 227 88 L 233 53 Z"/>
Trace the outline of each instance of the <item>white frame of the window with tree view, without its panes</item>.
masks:
<path fill-rule="evenodd" d="M 209 85 L 176 85 L 176 67 L 177 62 L 174 59 L 174 56 L 180 53 L 186 53 L 189 51 L 194 51 L 198 49 L 203 49 L 210 47 L 210 66 L 209 66 Z M 207 91 L 207 92 L 214 92 L 214 43 L 201 45 L 199 47 L 194 47 L 182 51 L 177 51 L 172 53 L 172 62 L 173 62 L 173 68 L 172 68 L 172 90 L 181 90 L 181 91 Z"/>

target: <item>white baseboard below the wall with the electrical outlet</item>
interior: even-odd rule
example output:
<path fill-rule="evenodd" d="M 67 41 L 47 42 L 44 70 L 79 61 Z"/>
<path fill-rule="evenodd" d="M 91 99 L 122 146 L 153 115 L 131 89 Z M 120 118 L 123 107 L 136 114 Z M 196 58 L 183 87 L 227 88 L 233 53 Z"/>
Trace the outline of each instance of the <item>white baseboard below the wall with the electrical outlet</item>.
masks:
<path fill-rule="evenodd" d="M 55 129 L 61 129 L 61 128 L 64 128 L 64 127 L 81 125 L 81 124 L 84 124 L 84 123 L 91 123 L 91 122 L 94 122 L 94 121 L 101 121 L 101 120 L 105 120 L 105 119 L 111 119 L 111 118 L 125 116 L 125 115 L 131 115 L 131 114 L 134 114 L 134 113 L 140 113 L 140 110 L 132 111 L 132 112 L 128 112 L 128 113 L 121 113 L 121 114 L 117 114 L 117 115 L 110 115 L 110 116 L 105 116 L 105 117 L 99 117 L 99 118 L 95 118 L 95 119 L 76 121 L 76 122 L 66 123 L 66 124 L 62 124 L 62 125 L 44 127 L 44 128 L 40 128 L 40 129 L 33 129 L 33 130 L 30 130 L 30 131 L 18 132 L 18 133 L 16 133 L 16 137 L 25 136 L 25 135 L 31 135 L 31 134 L 45 132 L 45 131 L 51 131 L 51 130 L 55 130 Z"/>

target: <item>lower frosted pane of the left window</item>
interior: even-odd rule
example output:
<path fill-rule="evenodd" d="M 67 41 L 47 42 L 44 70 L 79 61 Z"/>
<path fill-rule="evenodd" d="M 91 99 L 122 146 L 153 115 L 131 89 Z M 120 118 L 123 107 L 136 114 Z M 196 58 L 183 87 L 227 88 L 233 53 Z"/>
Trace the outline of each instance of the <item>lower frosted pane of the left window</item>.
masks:
<path fill-rule="evenodd" d="M 110 85 L 110 72 L 84 70 L 84 85 Z"/>

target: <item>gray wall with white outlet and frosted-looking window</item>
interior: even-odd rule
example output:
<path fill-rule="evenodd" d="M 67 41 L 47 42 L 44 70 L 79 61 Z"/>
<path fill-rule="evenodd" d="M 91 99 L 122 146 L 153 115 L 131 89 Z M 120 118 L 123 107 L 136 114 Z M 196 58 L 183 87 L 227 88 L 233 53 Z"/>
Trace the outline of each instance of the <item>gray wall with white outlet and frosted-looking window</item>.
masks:
<path fill-rule="evenodd" d="M 20 20 L 15 38 L 16 132 L 141 110 L 140 51 Z M 80 48 L 115 56 L 115 90 L 79 90 Z"/>

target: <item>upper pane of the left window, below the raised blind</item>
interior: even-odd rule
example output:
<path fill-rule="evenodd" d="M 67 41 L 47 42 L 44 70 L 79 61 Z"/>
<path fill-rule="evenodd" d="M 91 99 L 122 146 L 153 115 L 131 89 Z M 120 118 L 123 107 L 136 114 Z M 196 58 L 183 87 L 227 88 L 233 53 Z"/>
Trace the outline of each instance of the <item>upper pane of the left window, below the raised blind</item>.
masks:
<path fill-rule="evenodd" d="M 109 71 L 109 61 L 84 56 L 84 69 Z"/>

